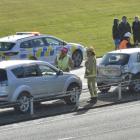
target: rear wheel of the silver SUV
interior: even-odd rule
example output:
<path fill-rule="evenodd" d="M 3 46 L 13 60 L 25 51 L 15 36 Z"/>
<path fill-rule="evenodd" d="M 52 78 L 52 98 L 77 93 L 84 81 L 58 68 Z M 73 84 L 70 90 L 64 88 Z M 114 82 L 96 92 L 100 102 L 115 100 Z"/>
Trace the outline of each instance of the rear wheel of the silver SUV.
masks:
<path fill-rule="evenodd" d="M 29 93 L 24 92 L 17 98 L 18 105 L 15 106 L 15 110 L 20 113 L 28 113 L 30 111 L 30 96 Z"/>

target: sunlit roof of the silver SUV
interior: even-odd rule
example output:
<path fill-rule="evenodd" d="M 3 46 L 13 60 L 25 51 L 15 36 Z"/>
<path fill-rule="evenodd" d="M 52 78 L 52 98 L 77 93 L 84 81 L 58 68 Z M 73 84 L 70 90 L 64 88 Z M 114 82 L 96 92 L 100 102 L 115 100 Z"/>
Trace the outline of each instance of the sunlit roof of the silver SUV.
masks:
<path fill-rule="evenodd" d="M 1 69 L 14 68 L 17 66 L 28 65 L 28 64 L 37 64 L 37 63 L 47 63 L 38 60 L 5 60 L 0 62 Z"/>

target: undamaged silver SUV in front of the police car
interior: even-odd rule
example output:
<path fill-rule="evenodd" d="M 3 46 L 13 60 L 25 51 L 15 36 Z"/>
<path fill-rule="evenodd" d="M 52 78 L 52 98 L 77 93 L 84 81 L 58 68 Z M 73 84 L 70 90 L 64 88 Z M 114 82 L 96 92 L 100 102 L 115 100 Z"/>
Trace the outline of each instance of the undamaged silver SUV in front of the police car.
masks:
<path fill-rule="evenodd" d="M 82 82 L 74 74 L 62 72 L 55 66 L 38 60 L 7 60 L 0 62 L 0 102 L 15 103 L 15 109 L 23 113 L 30 109 L 30 97 L 34 101 L 63 98 L 67 104 L 76 104 Z"/>

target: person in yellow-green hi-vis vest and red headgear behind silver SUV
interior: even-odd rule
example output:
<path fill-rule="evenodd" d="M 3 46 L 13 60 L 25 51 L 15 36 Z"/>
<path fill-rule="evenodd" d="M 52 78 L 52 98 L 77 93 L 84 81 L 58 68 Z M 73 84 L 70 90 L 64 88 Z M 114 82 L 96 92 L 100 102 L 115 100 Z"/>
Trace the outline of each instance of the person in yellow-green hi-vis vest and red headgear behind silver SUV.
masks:
<path fill-rule="evenodd" d="M 55 65 L 64 72 L 69 72 L 73 68 L 73 61 L 67 53 L 68 49 L 63 47 L 55 59 Z"/>

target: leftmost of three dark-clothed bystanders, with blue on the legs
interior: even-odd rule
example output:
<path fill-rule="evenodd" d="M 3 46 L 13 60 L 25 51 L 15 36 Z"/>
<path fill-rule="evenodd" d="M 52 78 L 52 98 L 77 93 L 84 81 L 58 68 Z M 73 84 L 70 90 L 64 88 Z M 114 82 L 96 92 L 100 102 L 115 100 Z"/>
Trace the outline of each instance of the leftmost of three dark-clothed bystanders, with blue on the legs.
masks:
<path fill-rule="evenodd" d="M 117 19 L 117 18 L 115 18 L 113 21 L 112 37 L 113 37 L 114 44 L 115 44 L 115 50 L 117 50 L 119 47 L 119 44 L 120 44 L 119 19 Z"/>

